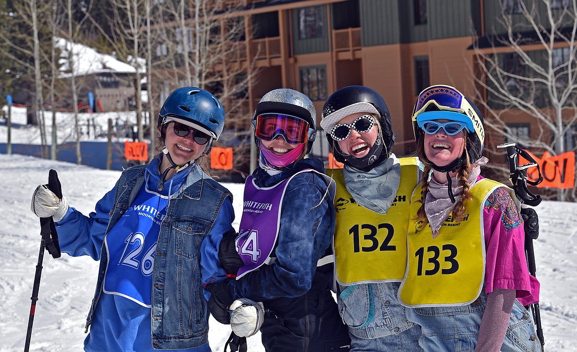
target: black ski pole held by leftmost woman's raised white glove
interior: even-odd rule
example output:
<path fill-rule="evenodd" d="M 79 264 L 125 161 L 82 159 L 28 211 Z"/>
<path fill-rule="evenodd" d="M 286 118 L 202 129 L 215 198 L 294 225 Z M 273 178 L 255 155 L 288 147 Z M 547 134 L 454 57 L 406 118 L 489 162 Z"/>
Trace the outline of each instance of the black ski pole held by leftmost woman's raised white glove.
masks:
<path fill-rule="evenodd" d="M 59 199 L 62 199 L 62 187 L 58 180 L 58 174 L 53 169 L 48 172 L 47 187 L 49 190 L 53 191 Z M 36 264 L 36 273 L 34 275 L 34 284 L 32 286 L 32 297 L 30 297 L 32 303 L 30 305 L 30 315 L 28 317 L 28 329 L 26 331 L 24 352 L 28 352 L 30 349 L 32 324 L 34 323 L 34 315 L 36 313 L 36 302 L 38 301 L 38 290 L 40 288 L 40 276 L 42 275 L 42 262 L 44 261 L 44 249 L 46 249 L 53 258 L 59 258 L 61 255 L 60 246 L 58 244 L 58 232 L 56 231 L 56 226 L 54 225 L 52 217 L 40 218 L 40 235 L 42 236 L 42 239 L 40 239 L 40 253 L 38 254 L 38 263 Z"/>

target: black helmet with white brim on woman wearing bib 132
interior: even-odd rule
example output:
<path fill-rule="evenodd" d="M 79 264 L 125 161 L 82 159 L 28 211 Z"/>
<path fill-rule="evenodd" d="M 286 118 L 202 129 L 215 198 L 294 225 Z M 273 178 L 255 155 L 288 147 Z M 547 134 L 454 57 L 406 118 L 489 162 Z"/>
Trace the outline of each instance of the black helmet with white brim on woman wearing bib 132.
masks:
<path fill-rule="evenodd" d="M 396 136 L 393 132 L 391 114 L 387 104 L 379 93 L 369 87 L 348 86 L 340 88 L 331 94 L 323 106 L 321 127 L 325 130 L 329 144 L 337 149 L 337 153 L 334 153 L 336 161 L 344 162 L 345 157 L 339 148 L 339 144 L 332 139 L 331 129 L 343 117 L 359 112 L 370 112 L 377 115 L 385 146 L 381 158 L 388 158 L 392 153 Z M 378 165 L 378 163 L 375 165 Z"/>

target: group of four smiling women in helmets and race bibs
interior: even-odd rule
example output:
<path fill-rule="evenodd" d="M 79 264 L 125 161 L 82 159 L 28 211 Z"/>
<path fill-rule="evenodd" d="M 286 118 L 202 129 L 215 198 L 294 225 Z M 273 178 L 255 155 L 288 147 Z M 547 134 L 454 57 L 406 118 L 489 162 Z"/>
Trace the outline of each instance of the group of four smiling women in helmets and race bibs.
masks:
<path fill-rule="evenodd" d="M 252 118 L 260 166 L 238 234 L 230 192 L 196 163 L 224 110 L 194 87 L 164 102 L 162 153 L 124 171 L 89 217 L 39 186 L 32 210 L 53 216 L 62 251 L 100 260 L 85 350 L 209 351 L 201 281 L 213 316 L 229 323 L 242 311 L 243 336 L 260 328 L 267 351 L 541 350 L 523 306 L 538 282 L 522 218 L 508 188 L 480 176 L 481 113 L 437 85 L 412 118 L 418 159 L 399 159 L 383 98 L 336 91 L 321 127 L 344 168 L 327 177 L 305 158 L 310 99 L 268 92 Z"/>

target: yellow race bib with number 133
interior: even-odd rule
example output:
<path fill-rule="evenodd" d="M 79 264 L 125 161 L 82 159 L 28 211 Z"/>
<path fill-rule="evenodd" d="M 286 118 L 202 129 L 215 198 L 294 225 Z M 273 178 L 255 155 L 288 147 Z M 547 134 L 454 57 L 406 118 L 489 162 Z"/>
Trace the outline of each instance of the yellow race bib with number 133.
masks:
<path fill-rule="evenodd" d="M 457 223 L 452 214 L 433 239 L 430 225 L 418 231 L 412 221 L 407 237 L 407 271 L 399 289 L 406 306 L 461 306 L 479 296 L 485 280 L 484 203 L 493 190 L 503 187 L 496 181 L 479 180 L 465 202 L 469 213 Z M 421 206 L 421 186 L 411 198 L 411 219 Z"/>

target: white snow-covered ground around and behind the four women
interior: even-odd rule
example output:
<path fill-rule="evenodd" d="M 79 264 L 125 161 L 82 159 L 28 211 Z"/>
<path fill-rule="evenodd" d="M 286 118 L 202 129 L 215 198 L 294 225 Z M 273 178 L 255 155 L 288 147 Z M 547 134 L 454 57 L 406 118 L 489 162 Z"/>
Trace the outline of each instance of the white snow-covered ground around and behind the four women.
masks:
<path fill-rule="evenodd" d="M 40 247 L 39 221 L 29 210 L 32 191 L 56 169 L 70 205 L 88 214 L 114 186 L 118 171 L 105 171 L 23 155 L 0 155 L 0 352 L 24 348 L 30 296 Z M 242 184 L 225 184 L 234 194 L 238 228 Z M 577 351 L 577 203 L 544 201 L 537 207 L 541 235 L 535 241 L 541 281 L 545 351 Z M 98 264 L 88 257 L 44 255 L 31 351 L 81 351 L 84 322 L 95 287 Z M 227 325 L 211 318 L 209 341 L 222 351 Z M 260 336 L 248 339 L 249 351 L 264 351 Z M 296 351 L 295 351 L 296 352 Z"/>

